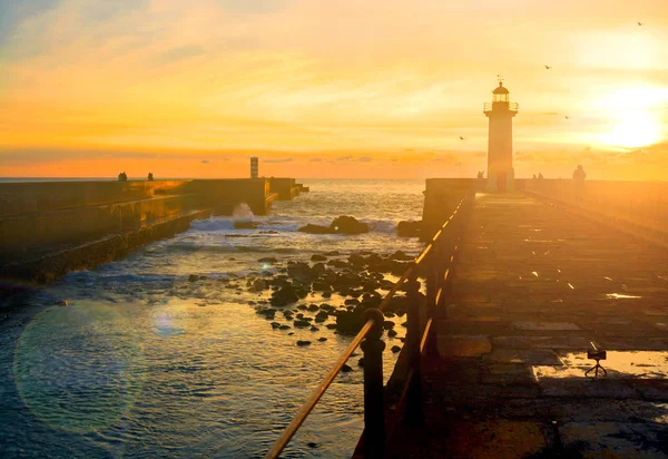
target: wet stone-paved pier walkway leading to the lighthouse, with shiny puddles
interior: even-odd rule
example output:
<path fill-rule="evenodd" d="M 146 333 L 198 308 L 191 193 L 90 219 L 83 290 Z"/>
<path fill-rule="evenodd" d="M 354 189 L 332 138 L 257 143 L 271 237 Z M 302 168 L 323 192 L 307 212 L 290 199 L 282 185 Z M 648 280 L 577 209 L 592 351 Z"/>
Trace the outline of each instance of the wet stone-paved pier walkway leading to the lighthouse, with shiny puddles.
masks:
<path fill-rule="evenodd" d="M 523 194 L 479 195 L 393 457 L 668 458 L 668 252 Z M 586 378 L 593 341 L 607 377 Z"/>

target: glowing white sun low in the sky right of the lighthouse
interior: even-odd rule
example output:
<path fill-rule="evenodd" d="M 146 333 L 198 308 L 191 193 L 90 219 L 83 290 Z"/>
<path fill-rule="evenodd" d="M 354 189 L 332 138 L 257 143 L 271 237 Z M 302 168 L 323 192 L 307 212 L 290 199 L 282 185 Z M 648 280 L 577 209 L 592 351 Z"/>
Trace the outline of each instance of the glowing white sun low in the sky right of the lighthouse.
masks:
<path fill-rule="evenodd" d="M 628 113 L 618 120 L 608 133 L 601 135 L 601 141 L 612 147 L 638 148 L 661 140 L 662 126 L 649 113 Z"/>

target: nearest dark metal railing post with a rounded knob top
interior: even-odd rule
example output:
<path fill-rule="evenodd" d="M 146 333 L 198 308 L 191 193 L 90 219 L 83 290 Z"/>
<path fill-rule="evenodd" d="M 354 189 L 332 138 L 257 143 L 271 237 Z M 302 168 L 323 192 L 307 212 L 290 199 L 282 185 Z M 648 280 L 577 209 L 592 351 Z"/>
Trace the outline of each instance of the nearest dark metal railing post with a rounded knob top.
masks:
<path fill-rule="evenodd" d="M 373 320 L 373 328 L 362 342 L 364 351 L 364 457 L 385 457 L 385 403 L 383 389 L 383 350 L 385 342 L 383 321 L 377 309 L 366 310 L 366 320 Z"/>

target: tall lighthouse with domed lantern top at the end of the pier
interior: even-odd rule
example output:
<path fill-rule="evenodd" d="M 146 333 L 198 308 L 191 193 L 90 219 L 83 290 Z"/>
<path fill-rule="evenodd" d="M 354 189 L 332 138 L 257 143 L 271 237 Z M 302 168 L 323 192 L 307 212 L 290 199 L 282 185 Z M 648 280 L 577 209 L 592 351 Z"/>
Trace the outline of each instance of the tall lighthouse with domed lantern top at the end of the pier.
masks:
<path fill-rule="evenodd" d="M 512 168 L 512 118 L 518 114 L 518 105 L 510 101 L 510 92 L 499 80 L 492 91 L 492 102 L 484 104 L 484 115 L 490 119 L 488 144 L 489 192 L 507 192 L 514 188 Z"/>

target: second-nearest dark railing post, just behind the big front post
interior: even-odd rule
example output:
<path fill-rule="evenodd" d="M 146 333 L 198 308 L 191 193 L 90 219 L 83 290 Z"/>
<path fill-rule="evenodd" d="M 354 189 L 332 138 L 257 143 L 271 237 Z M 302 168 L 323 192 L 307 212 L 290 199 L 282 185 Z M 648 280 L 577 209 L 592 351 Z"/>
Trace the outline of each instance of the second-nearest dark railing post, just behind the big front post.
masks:
<path fill-rule="evenodd" d="M 411 274 L 407 281 L 406 295 L 409 296 L 409 330 L 406 331 L 406 345 L 409 348 L 409 368 L 413 370 L 406 394 L 406 421 L 411 426 L 422 426 L 424 412 L 422 410 L 422 355 L 420 341 L 422 330 L 420 326 L 420 283 L 416 274 Z"/>

